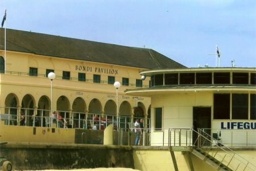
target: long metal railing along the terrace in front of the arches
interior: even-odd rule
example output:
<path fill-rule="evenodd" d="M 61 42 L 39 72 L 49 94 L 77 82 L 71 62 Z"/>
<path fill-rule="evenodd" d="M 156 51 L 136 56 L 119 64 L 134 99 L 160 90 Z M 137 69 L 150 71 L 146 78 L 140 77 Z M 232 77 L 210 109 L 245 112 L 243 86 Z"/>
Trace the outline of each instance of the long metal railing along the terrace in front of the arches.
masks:
<path fill-rule="evenodd" d="M 7 112 L 3 112 L 3 110 Z M 44 109 L 30 109 L 30 108 L 12 108 L 0 106 L 0 125 L 16 125 L 19 126 L 21 119 L 20 111 L 23 110 L 25 114 L 26 123 L 24 126 L 39 126 L 39 127 L 68 127 L 78 129 L 105 129 L 108 125 L 112 124 L 113 127 L 121 127 L 129 129 L 128 123 L 133 122 L 133 117 L 129 116 L 116 116 L 110 114 L 95 114 L 95 113 L 82 113 L 82 112 L 67 112 L 56 110 L 57 116 L 53 121 L 51 110 Z M 3 113 L 1 113 L 3 112 Z M 94 121 L 93 117 L 97 115 L 98 120 Z M 59 116 L 61 116 L 60 119 Z M 143 118 L 145 119 L 145 118 Z M 36 120 L 39 121 L 36 125 Z M 52 125 L 53 122 L 53 125 Z M 150 127 L 150 119 L 147 119 L 147 125 Z"/>

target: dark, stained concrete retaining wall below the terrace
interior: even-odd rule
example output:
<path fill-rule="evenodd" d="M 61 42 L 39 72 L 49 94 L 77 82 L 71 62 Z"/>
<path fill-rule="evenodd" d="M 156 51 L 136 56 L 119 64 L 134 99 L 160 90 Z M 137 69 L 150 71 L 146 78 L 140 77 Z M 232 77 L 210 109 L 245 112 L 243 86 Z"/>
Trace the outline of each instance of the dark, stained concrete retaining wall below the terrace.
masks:
<path fill-rule="evenodd" d="M 88 144 L 8 143 L 7 160 L 13 170 L 70 168 L 133 168 L 131 147 Z"/>

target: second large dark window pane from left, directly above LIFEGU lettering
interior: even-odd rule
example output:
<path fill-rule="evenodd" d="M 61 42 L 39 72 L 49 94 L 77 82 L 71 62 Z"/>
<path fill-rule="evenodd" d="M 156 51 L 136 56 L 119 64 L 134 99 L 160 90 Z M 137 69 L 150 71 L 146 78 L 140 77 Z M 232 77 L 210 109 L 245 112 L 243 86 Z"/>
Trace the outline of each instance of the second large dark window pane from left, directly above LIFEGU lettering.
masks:
<path fill-rule="evenodd" d="M 232 94 L 232 119 L 248 119 L 248 94 Z"/>

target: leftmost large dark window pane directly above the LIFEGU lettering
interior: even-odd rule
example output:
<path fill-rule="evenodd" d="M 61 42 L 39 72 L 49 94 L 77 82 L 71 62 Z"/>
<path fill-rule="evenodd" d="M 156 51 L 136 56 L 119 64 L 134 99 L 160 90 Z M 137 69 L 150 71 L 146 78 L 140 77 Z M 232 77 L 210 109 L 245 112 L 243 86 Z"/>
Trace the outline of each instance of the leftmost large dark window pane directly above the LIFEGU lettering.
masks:
<path fill-rule="evenodd" d="M 230 119 L 230 94 L 213 95 L 213 119 Z"/>

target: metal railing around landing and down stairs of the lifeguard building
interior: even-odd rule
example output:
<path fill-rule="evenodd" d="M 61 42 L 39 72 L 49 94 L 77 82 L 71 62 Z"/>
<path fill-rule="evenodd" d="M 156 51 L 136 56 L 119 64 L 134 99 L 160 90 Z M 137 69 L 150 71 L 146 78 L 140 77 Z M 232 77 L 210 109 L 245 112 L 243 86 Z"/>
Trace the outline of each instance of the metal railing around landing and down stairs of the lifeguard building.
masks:
<path fill-rule="evenodd" d="M 220 162 L 220 166 L 225 165 L 232 170 L 256 170 L 253 163 L 203 130 L 197 132 L 191 128 L 171 128 L 169 131 L 169 146 L 191 147 L 191 152 L 200 151 L 205 159 L 210 155 Z"/>

